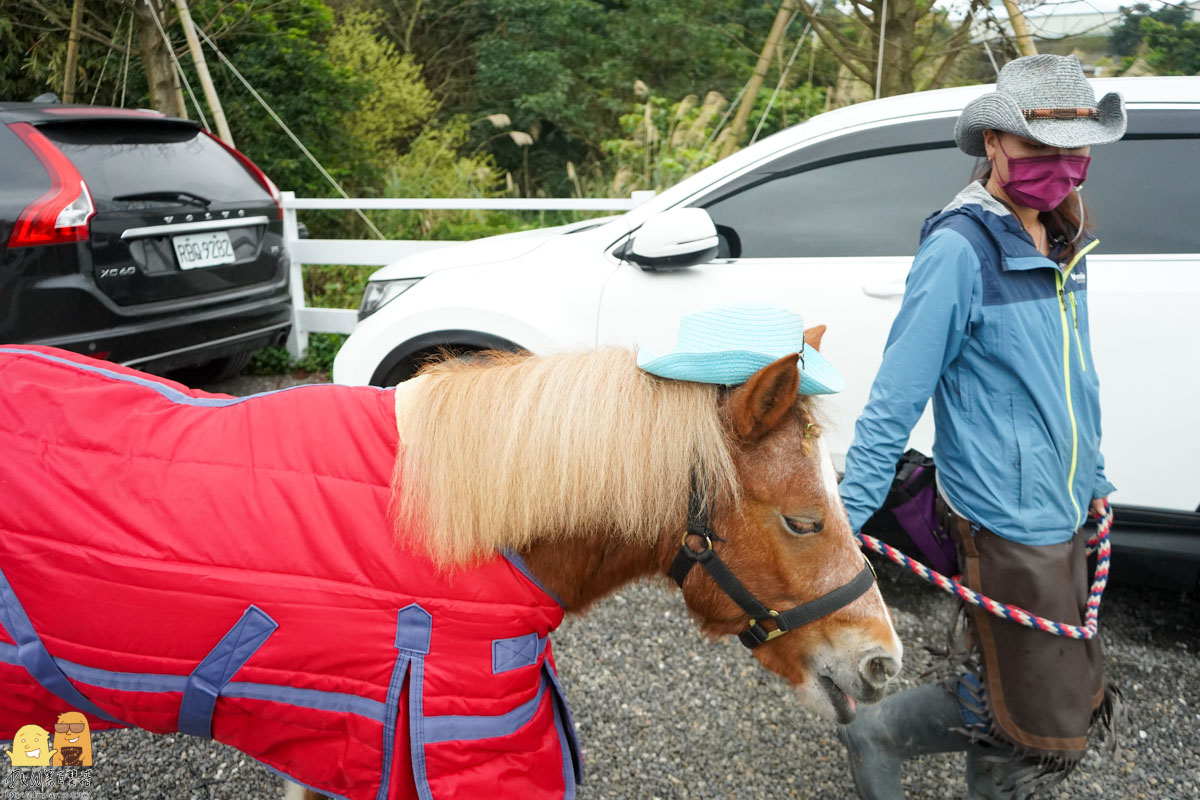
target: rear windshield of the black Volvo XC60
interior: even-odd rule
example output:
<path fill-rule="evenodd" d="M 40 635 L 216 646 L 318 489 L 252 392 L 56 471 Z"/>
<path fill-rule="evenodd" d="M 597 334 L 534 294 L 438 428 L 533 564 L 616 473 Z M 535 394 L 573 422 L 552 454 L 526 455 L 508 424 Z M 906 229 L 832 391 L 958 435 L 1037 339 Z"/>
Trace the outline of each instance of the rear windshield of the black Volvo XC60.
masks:
<path fill-rule="evenodd" d="M 37 130 L 78 168 L 97 211 L 144 206 L 145 200 L 113 198 L 160 192 L 185 192 L 214 203 L 271 201 L 236 158 L 191 125 L 89 120 Z"/>

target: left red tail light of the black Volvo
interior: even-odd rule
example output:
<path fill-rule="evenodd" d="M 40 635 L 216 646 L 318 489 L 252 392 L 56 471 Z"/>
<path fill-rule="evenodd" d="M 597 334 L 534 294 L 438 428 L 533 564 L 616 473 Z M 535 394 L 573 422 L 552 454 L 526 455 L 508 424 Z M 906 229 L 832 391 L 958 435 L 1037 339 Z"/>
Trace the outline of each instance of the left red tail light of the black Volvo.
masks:
<path fill-rule="evenodd" d="M 88 221 L 96 213 L 96 206 L 79 170 L 29 122 L 13 122 L 8 127 L 34 151 L 50 176 L 50 188 L 17 217 L 8 247 L 86 241 Z"/>

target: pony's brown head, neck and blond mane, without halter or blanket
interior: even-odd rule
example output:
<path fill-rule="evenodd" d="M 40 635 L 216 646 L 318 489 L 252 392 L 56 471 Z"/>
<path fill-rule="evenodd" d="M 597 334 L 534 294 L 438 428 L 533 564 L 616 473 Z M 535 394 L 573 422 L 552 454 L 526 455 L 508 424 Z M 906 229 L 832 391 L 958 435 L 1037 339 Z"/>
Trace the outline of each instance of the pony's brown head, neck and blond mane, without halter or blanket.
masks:
<path fill-rule="evenodd" d="M 823 332 L 809 330 L 808 344 Z M 516 551 L 584 613 L 670 572 L 698 487 L 736 578 L 772 609 L 800 606 L 851 582 L 864 559 L 799 377 L 793 354 L 736 389 L 665 380 L 624 349 L 427 367 L 397 389 L 398 524 L 425 531 L 446 570 Z M 704 633 L 746 630 L 749 615 L 703 570 L 688 573 L 683 596 Z M 901 645 L 871 585 L 752 652 L 806 706 L 845 723 L 857 702 L 882 697 Z"/>

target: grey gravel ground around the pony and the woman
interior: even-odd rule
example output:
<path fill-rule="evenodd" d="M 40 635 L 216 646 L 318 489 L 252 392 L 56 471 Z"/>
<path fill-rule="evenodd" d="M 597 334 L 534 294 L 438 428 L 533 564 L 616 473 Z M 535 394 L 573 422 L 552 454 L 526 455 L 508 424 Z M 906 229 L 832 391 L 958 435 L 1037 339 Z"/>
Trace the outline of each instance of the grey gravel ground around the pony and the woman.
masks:
<path fill-rule="evenodd" d="M 313 378 L 242 377 L 209 389 L 252 393 Z M 905 644 L 902 688 L 929 664 L 924 648 L 944 640 L 954 604 L 890 564 L 878 571 Z M 1109 589 L 1100 622 L 1128 724 L 1115 752 L 1093 748 L 1048 796 L 1200 798 L 1198 612 L 1194 597 Z M 706 642 L 665 583 L 626 587 L 569 619 L 554 651 L 583 750 L 581 800 L 854 796 L 834 726 L 800 709 L 737 642 Z M 282 796 L 278 777 L 216 742 L 121 730 L 98 734 L 95 750 L 96 799 Z M 961 774 L 961 754 L 916 759 L 905 787 L 910 798 L 962 798 Z"/>

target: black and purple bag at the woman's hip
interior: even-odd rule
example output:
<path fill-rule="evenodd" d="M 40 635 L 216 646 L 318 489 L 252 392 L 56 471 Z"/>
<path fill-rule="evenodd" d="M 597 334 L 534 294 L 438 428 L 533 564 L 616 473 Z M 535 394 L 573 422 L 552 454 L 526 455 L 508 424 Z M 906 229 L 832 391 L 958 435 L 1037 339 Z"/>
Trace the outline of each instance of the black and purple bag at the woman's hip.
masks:
<path fill-rule="evenodd" d="M 936 500 L 934 459 L 908 450 L 896 464 L 896 477 L 883 507 L 863 525 L 863 533 L 953 577 L 959 571 L 959 557 L 934 510 Z"/>

